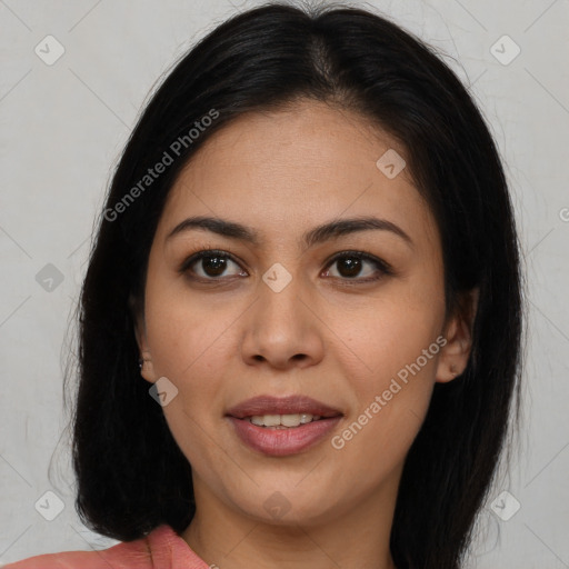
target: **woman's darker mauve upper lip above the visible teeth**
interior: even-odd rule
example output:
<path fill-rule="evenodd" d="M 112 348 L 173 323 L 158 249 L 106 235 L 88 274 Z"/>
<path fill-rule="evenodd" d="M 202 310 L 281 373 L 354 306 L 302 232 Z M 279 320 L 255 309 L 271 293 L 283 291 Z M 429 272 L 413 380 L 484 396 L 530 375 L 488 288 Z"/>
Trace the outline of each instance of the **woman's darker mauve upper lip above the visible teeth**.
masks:
<path fill-rule="evenodd" d="M 295 395 L 288 397 L 258 396 L 236 405 L 227 415 L 237 419 L 262 415 L 310 413 L 320 417 L 337 417 L 341 411 L 310 397 Z"/>

